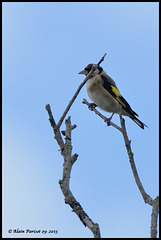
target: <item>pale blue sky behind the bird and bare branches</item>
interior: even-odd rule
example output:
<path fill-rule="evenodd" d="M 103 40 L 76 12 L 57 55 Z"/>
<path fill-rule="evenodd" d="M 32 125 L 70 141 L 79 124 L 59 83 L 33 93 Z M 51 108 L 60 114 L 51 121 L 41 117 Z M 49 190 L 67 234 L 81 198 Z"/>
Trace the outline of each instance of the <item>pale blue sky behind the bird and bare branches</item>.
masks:
<path fill-rule="evenodd" d="M 158 195 L 158 8 L 155 2 L 2 4 L 4 237 L 93 237 L 64 203 L 63 158 L 45 105 L 58 121 L 84 79 L 78 72 L 105 52 L 101 66 L 149 127 L 125 117 L 141 182 L 152 198 Z M 85 87 L 68 113 L 78 126 L 71 191 L 102 237 L 149 237 L 152 209 L 135 184 L 123 138 L 83 98 L 90 101 Z M 118 115 L 113 121 L 119 124 Z M 58 233 L 8 232 L 18 228 Z"/>

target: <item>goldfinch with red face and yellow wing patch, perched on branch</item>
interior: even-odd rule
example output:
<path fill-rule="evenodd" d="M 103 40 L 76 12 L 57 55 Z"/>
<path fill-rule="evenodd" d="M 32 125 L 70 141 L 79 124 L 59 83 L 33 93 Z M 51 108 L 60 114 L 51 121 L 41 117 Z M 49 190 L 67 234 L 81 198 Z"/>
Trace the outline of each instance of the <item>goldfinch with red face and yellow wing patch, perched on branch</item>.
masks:
<path fill-rule="evenodd" d="M 87 76 L 92 67 L 96 67 L 96 69 L 86 82 L 88 96 L 93 101 L 93 103 L 91 103 L 91 108 L 99 107 L 105 112 L 112 113 L 111 117 L 107 118 L 109 121 L 115 113 L 128 116 L 139 127 L 144 129 L 146 125 L 137 118 L 139 115 L 132 110 L 129 103 L 121 95 L 114 80 L 107 75 L 102 67 L 91 63 L 79 72 L 79 74 Z"/>

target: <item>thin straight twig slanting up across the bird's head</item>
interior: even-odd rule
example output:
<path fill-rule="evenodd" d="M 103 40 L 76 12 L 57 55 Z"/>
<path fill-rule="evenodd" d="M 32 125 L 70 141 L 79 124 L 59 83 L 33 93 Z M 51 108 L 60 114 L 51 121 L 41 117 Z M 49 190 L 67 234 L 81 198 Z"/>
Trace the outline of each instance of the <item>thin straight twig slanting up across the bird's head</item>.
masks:
<path fill-rule="evenodd" d="M 92 67 L 91 71 L 88 73 L 88 75 L 86 76 L 86 78 L 84 79 L 84 81 L 79 85 L 78 89 L 76 90 L 74 96 L 72 97 L 72 99 L 69 101 L 63 115 L 61 116 L 57 127 L 59 128 L 62 124 L 62 122 L 64 121 L 65 116 L 67 115 L 70 107 L 72 106 L 73 102 L 75 101 L 76 97 L 78 96 L 80 90 L 82 89 L 82 87 L 84 86 L 84 84 L 87 82 L 87 80 L 91 77 L 91 75 L 93 74 L 93 72 L 95 71 L 95 69 L 99 66 L 99 64 L 104 61 L 104 58 L 106 56 L 106 53 L 104 54 L 104 56 L 101 58 L 101 60 L 96 64 L 96 66 Z"/>

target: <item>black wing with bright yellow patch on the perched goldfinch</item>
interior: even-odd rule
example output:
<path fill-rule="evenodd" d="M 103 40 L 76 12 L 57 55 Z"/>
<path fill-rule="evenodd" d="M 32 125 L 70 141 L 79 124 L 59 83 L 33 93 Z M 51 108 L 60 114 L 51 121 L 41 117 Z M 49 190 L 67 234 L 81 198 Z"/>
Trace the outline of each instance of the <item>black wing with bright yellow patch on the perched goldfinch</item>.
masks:
<path fill-rule="evenodd" d="M 138 114 L 131 109 L 130 105 L 125 100 L 125 98 L 121 96 L 112 78 L 110 78 L 107 74 L 106 76 L 101 74 L 100 77 L 103 80 L 103 87 L 122 105 L 123 109 L 126 110 L 131 115 L 138 116 Z"/>

